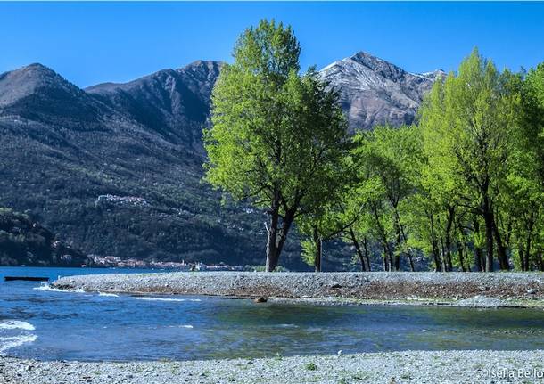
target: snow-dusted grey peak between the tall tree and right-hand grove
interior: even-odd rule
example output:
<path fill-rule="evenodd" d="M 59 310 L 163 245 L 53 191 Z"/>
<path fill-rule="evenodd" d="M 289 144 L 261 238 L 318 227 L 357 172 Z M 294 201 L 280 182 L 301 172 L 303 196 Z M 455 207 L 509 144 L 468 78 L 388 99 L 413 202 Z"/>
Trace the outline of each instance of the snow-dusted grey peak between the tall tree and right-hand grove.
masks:
<path fill-rule="evenodd" d="M 334 61 L 320 73 L 340 91 L 342 110 L 352 131 L 383 124 L 411 124 L 424 94 L 445 75 L 441 69 L 409 73 L 365 52 Z"/>

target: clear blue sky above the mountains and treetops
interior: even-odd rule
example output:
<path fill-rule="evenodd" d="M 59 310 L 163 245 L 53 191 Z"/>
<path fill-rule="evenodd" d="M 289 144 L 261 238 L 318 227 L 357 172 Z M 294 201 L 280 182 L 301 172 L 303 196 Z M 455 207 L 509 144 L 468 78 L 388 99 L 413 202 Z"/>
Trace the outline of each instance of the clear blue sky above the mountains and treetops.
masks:
<path fill-rule="evenodd" d="M 412 72 L 478 45 L 499 68 L 544 61 L 544 3 L 2 3 L 0 72 L 41 62 L 78 86 L 230 61 L 261 18 L 293 25 L 303 68 L 361 50 Z"/>

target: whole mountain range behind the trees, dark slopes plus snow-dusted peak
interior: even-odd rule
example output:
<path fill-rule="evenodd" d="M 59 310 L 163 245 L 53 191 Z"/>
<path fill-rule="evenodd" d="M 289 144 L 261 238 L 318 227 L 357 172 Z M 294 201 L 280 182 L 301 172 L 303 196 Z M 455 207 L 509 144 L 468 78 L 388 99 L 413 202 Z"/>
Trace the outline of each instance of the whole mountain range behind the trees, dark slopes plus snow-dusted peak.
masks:
<path fill-rule="evenodd" d="M 87 253 L 261 264 L 264 215 L 202 184 L 202 127 L 218 61 L 80 89 L 40 64 L 0 75 L 0 206 Z M 322 69 L 350 129 L 411 123 L 441 71 L 368 53 Z M 284 265 L 301 267 L 298 244 Z"/>

